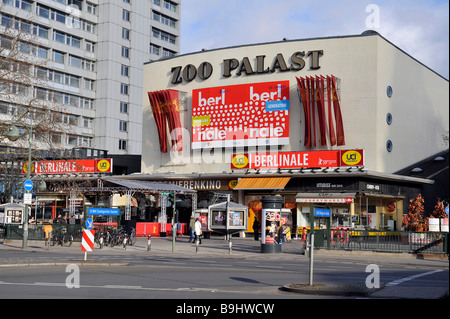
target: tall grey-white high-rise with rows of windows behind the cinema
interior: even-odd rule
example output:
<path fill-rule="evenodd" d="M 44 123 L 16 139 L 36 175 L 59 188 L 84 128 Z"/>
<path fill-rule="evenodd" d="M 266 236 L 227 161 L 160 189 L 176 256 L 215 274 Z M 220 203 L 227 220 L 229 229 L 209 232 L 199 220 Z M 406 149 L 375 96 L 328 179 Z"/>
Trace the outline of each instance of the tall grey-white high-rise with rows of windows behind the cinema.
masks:
<path fill-rule="evenodd" d="M 179 53 L 180 3 L 0 0 L 2 48 L 10 42 L 6 28 L 29 33 L 31 49 L 20 50 L 45 62 L 30 72 L 46 85 L 34 82 L 22 94 L 64 107 L 61 121 L 70 132 L 53 134 L 52 142 L 141 154 L 143 64 Z M 2 99 L 0 120 L 17 116 L 17 105 Z"/>

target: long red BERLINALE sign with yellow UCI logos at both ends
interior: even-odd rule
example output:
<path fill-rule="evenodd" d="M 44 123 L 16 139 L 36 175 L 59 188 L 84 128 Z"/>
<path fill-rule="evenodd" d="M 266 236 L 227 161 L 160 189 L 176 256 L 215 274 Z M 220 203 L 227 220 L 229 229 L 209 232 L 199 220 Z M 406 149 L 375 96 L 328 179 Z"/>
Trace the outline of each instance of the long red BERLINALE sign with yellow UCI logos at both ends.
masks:
<path fill-rule="evenodd" d="M 234 154 L 231 168 L 293 169 L 364 165 L 364 150 Z"/>

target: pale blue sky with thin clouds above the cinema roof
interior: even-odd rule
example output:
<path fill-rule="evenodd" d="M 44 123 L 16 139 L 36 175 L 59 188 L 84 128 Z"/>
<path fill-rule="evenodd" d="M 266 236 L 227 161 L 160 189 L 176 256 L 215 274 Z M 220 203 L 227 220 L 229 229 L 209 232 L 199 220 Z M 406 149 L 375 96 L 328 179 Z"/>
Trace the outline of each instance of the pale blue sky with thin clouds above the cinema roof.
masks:
<path fill-rule="evenodd" d="M 448 0 L 183 0 L 181 53 L 373 29 L 448 79 L 448 11 Z"/>

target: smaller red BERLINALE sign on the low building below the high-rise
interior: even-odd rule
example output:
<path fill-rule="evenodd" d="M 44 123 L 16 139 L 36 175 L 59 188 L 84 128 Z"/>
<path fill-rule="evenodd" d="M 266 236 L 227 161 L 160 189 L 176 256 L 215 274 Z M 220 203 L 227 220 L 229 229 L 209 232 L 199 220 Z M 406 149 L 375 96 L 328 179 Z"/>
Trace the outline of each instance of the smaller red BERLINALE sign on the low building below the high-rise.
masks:
<path fill-rule="evenodd" d="M 22 166 L 22 174 L 26 174 L 28 163 Z M 85 159 L 67 161 L 41 161 L 31 165 L 31 174 L 79 174 L 79 173 L 111 173 L 112 159 Z"/>

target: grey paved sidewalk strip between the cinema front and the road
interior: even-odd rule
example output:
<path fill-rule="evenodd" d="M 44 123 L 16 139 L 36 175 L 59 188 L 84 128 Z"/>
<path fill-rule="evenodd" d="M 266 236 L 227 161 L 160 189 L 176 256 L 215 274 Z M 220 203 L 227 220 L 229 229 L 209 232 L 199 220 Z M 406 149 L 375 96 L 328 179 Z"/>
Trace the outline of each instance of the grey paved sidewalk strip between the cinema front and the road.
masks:
<path fill-rule="evenodd" d="M 188 243 L 189 237 L 177 237 L 175 250 L 172 251 L 172 237 L 152 237 L 151 251 L 147 251 L 147 238 L 138 237 L 136 244 L 127 246 L 123 250 L 122 246 L 104 247 L 98 249 L 94 246 L 94 252 L 89 254 L 95 258 L 96 255 L 152 255 L 158 256 L 177 256 L 183 258 L 240 258 L 254 260 L 307 260 L 308 256 L 304 254 L 303 242 L 292 240 L 282 246 L 282 253 L 261 253 L 261 243 L 253 238 L 232 238 L 231 253 L 229 241 L 224 240 L 223 236 L 213 236 L 211 239 L 202 239 L 202 244 L 198 246 L 198 251 L 194 243 Z M 0 241 L 0 256 L 2 251 L 26 251 L 35 253 L 52 254 L 78 254 L 81 255 L 81 243 L 74 242 L 71 247 L 50 246 L 47 247 L 43 241 L 28 241 L 28 247 L 22 249 L 21 240 Z M 174 255 L 175 254 L 175 255 Z M 37 256 L 37 255 L 36 255 Z M 378 253 L 370 251 L 338 251 L 338 250 L 315 250 L 316 261 L 323 260 L 349 260 L 363 261 L 367 263 L 384 264 L 404 264 L 426 267 L 448 268 L 449 260 L 444 255 L 414 255 L 408 253 Z M 0 264 L 5 264 L 7 260 L 0 258 Z"/>

